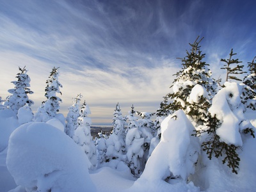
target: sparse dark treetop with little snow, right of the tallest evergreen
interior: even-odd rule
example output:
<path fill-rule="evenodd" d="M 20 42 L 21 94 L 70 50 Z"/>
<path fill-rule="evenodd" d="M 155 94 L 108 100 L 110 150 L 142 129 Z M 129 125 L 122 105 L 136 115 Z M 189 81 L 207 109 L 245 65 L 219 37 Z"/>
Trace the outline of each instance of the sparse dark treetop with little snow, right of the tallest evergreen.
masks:
<path fill-rule="evenodd" d="M 238 59 L 234 60 L 232 58 L 232 56 L 236 55 L 236 53 L 233 53 L 233 49 L 231 49 L 230 54 L 229 54 L 229 58 L 226 59 L 221 59 L 220 61 L 225 62 L 226 64 L 224 64 L 224 67 L 222 67 L 221 69 L 226 69 L 227 70 L 227 74 L 226 74 L 226 79 L 225 81 L 228 81 L 228 79 L 234 79 L 236 81 L 242 81 L 241 79 L 237 78 L 234 75 L 238 75 L 238 74 L 244 74 L 246 72 L 243 72 L 243 67 L 244 65 L 239 65 L 239 63 L 242 63 L 242 61 L 239 61 Z M 231 68 L 232 64 L 237 64 L 236 67 Z"/>

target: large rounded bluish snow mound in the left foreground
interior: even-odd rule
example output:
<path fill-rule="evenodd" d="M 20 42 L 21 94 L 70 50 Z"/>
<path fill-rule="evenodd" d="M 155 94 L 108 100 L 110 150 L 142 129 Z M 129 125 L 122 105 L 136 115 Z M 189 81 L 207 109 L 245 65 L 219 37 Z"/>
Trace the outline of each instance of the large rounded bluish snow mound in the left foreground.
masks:
<path fill-rule="evenodd" d="M 6 165 L 18 188 L 27 191 L 95 191 L 88 157 L 49 124 L 31 122 L 13 131 Z"/>

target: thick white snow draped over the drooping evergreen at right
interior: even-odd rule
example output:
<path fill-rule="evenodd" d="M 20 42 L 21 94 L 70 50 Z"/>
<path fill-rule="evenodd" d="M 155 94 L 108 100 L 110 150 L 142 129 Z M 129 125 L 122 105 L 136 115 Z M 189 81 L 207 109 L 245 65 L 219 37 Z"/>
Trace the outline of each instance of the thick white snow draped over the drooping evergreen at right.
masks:
<path fill-rule="evenodd" d="M 237 83 L 226 82 L 225 88 L 222 88 L 213 98 L 209 109 L 212 116 L 216 114 L 216 117 L 221 120 L 221 126 L 216 130 L 220 141 L 236 146 L 243 145 L 239 132 L 243 125 L 241 122 L 245 120 L 244 106 L 240 98 L 242 88 Z"/>

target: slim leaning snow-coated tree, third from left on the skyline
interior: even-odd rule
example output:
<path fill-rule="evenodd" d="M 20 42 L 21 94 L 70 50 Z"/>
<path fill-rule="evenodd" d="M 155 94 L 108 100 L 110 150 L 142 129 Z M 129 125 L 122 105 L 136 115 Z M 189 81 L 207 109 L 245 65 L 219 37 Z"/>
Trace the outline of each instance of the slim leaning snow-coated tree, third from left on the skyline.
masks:
<path fill-rule="evenodd" d="M 79 102 L 82 97 L 83 95 L 79 94 L 77 97 L 73 98 L 73 104 L 68 108 L 65 133 L 70 136 L 70 138 L 73 138 L 74 131 L 77 128 L 77 118 L 79 117 Z"/>

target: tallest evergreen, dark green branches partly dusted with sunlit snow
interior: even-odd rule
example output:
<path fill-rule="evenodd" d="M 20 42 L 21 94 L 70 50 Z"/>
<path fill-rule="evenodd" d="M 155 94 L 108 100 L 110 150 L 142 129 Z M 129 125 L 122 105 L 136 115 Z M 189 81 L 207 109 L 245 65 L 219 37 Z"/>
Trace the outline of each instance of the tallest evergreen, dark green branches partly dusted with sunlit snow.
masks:
<path fill-rule="evenodd" d="M 196 123 L 202 124 L 205 122 L 211 99 L 216 94 L 217 83 L 211 78 L 212 72 L 207 68 L 209 64 L 202 61 L 205 54 L 200 51 L 199 43 L 202 39 L 198 41 L 198 38 L 193 44 L 189 44 L 191 51 L 186 51 L 187 56 L 182 59 L 182 70 L 175 74 L 177 78 L 171 86 L 173 93 L 169 93 L 166 97 L 173 100 L 168 105 L 168 109 L 171 111 L 183 109 Z M 200 102 L 189 100 L 191 90 L 196 84 L 200 84 L 207 92 L 207 97 L 201 95 L 198 98 Z"/>

